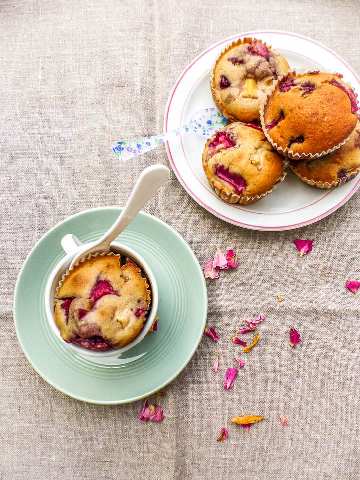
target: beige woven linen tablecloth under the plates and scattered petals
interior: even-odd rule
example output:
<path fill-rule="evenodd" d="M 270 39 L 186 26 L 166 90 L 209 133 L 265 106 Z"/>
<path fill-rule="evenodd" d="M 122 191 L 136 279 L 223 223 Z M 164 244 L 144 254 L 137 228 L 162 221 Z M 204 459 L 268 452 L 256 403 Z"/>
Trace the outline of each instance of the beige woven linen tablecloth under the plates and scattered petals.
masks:
<path fill-rule="evenodd" d="M 195 55 L 237 32 L 291 30 L 359 73 L 359 17 L 350 0 L 1 1 L 1 479 L 360 478 L 360 296 L 345 289 L 360 279 L 359 192 L 309 227 L 253 232 L 202 209 L 171 174 L 145 211 L 174 227 L 202 265 L 216 246 L 233 246 L 239 267 L 208 283 L 208 325 L 222 340 L 204 337 L 157 400 L 162 423 L 141 423 L 141 402 L 89 405 L 50 387 L 26 360 L 11 314 L 19 269 L 49 228 L 123 205 L 145 166 L 168 164 L 162 147 L 124 180 L 110 147 L 161 131 L 172 85 Z M 302 260 L 298 237 L 315 239 Z M 225 338 L 260 312 L 259 344 L 226 392 L 234 348 Z M 302 336 L 294 349 L 292 326 Z M 246 413 L 268 420 L 246 435 L 229 422 Z M 229 438 L 216 442 L 222 426 Z"/>

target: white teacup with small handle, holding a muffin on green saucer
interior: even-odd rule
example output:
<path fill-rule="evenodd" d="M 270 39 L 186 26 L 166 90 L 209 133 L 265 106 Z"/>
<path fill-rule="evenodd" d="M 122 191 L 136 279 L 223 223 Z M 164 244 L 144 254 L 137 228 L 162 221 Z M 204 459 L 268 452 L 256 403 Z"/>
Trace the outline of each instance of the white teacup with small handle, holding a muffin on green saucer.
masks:
<path fill-rule="evenodd" d="M 112 242 L 110 244 L 111 251 L 116 254 L 120 254 L 123 257 L 130 258 L 130 260 L 135 262 L 138 265 L 138 267 L 140 267 L 143 270 L 144 274 L 146 275 L 149 281 L 150 289 L 151 289 L 151 303 L 150 303 L 150 309 L 147 313 L 147 319 L 144 322 L 143 328 L 141 329 L 139 334 L 135 337 L 135 339 L 133 339 L 130 343 L 123 346 L 122 348 L 117 348 L 115 350 L 110 349 L 110 350 L 92 351 L 92 350 L 87 350 L 86 348 L 82 348 L 81 346 L 75 345 L 74 343 L 66 343 L 65 340 L 62 339 L 60 335 L 60 330 L 58 329 L 54 321 L 55 294 L 56 294 L 56 288 L 59 285 L 59 282 L 62 279 L 63 274 L 65 274 L 67 269 L 70 267 L 72 259 L 79 252 L 79 250 L 81 249 L 81 246 L 82 246 L 82 243 L 74 235 L 67 235 L 62 240 L 62 247 L 65 250 L 66 256 L 62 260 L 60 260 L 60 262 L 58 262 L 54 270 L 51 272 L 48 282 L 46 284 L 45 297 L 44 297 L 46 317 L 48 319 L 50 328 L 54 333 L 54 335 L 59 339 L 60 342 L 63 343 L 63 345 L 66 345 L 72 351 L 79 353 L 80 355 L 85 355 L 88 357 L 97 357 L 97 358 L 112 357 L 116 355 L 119 356 L 120 353 L 123 353 L 129 350 L 134 345 L 136 345 L 141 340 L 143 340 L 143 338 L 148 333 L 148 331 L 151 328 L 151 325 L 155 320 L 156 312 L 159 304 L 159 292 L 157 289 L 155 276 L 152 273 L 150 267 L 147 265 L 147 263 L 143 259 L 143 257 L 141 257 L 137 252 L 135 252 L 130 247 L 127 247 L 126 245 L 123 245 L 117 242 Z"/>

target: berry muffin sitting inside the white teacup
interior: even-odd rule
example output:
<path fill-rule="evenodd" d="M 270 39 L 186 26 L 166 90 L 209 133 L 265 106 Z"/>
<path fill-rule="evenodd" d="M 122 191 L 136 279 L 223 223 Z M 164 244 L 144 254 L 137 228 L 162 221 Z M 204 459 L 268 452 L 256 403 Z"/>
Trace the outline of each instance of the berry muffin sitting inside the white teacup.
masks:
<path fill-rule="evenodd" d="M 120 348 L 140 332 L 150 290 L 130 259 L 114 253 L 90 256 L 63 276 L 54 320 L 67 343 L 90 350 Z"/>

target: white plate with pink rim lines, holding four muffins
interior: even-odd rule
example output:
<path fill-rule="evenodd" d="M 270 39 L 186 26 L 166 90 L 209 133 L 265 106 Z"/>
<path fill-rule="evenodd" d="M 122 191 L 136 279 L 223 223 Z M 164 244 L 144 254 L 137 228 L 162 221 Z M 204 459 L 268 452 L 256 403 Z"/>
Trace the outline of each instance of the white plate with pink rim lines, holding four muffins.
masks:
<path fill-rule="evenodd" d="M 192 114 L 214 106 L 210 70 L 224 46 L 239 37 L 257 37 L 272 45 L 291 68 L 328 69 L 341 73 L 360 94 L 360 78 L 335 52 L 301 35 L 281 31 L 246 32 L 226 38 L 198 55 L 181 73 L 169 96 L 164 132 L 188 123 Z M 342 206 L 360 185 L 360 175 L 342 187 L 322 190 L 302 182 L 287 169 L 284 182 L 264 199 L 252 205 L 234 205 L 221 200 L 204 174 L 201 155 L 206 139 L 194 132 L 166 143 L 172 169 L 199 205 L 234 225 L 253 230 L 290 230 L 316 222 Z"/>

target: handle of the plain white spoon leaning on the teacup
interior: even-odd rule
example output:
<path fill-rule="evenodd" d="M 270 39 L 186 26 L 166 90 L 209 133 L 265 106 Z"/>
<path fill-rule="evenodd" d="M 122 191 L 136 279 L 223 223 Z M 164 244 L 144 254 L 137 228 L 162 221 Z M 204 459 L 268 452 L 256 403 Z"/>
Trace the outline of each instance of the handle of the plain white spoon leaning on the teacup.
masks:
<path fill-rule="evenodd" d="M 126 228 L 145 203 L 169 178 L 165 165 L 151 165 L 140 174 L 133 191 L 114 225 L 100 238 L 99 250 L 109 249 L 110 243 Z"/>

